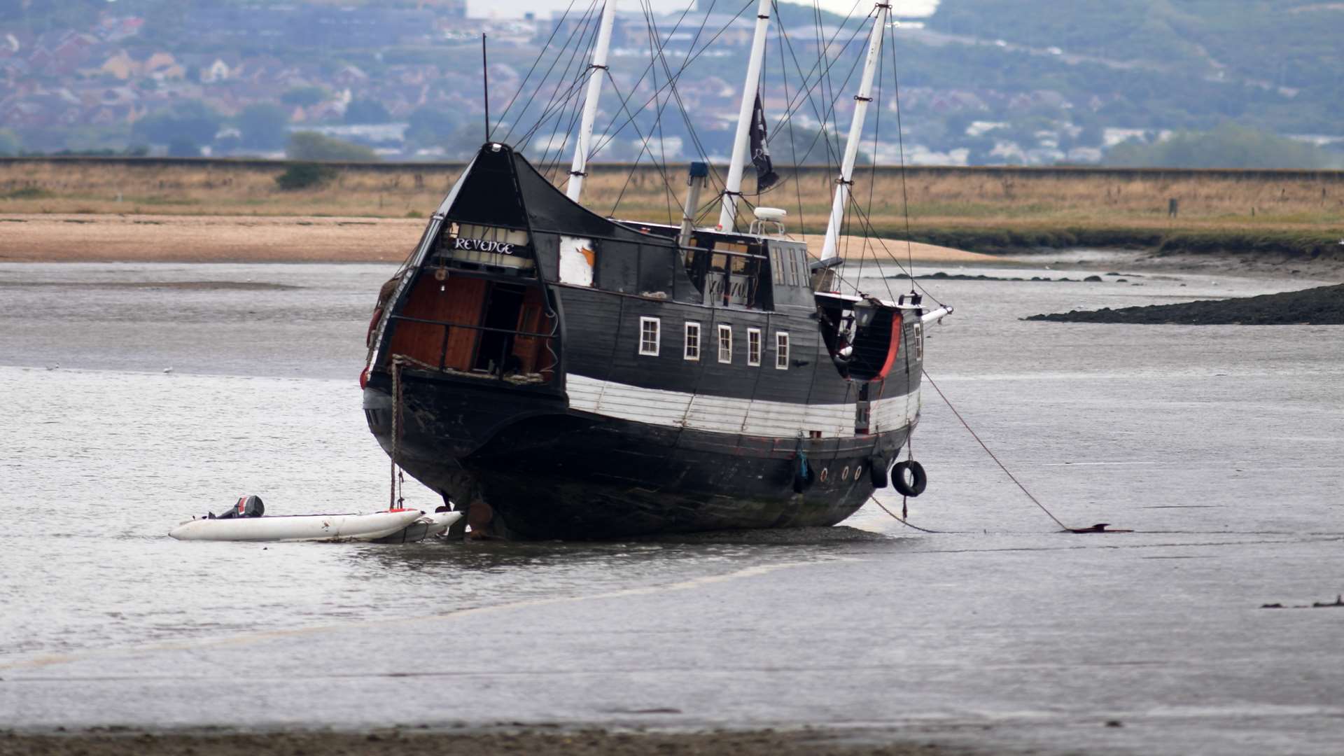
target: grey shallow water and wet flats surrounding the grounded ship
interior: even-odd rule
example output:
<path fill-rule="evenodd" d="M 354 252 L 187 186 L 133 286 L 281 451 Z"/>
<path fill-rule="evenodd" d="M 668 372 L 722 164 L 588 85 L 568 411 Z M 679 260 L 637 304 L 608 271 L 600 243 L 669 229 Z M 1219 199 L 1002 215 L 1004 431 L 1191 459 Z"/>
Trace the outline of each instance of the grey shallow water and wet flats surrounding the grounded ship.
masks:
<path fill-rule="evenodd" d="M 387 500 L 355 378 L 390 272 L 0 265 L 0 726 L 817 724 L 1137 753 L 1344 741 L 1344 611 L 1259 608 L 1344 591 L 1344 327 L 1019 320 L 1309 281 L 921 281 L 957 307 L 930 330 L 927 367 L 977 433 L 1066 523 L 1133 534 L 1055 533 L 926 387 L 915 452 L 931 482 L 910 518 L 946 533 L 866 507 L 839 529 L 624 543 L 164 537 L 243 492 L 277 514 Z M 137 281 L 297 288 L 106 285 Z"/>

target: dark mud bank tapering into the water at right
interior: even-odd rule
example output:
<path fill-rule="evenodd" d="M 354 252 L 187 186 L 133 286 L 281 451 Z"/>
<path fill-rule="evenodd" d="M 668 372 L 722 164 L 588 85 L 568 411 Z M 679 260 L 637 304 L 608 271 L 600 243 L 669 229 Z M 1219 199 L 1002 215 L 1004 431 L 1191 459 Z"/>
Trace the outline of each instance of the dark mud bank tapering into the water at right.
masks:
<path fill-rule="evenodd" d="M 1133 323 L 1180 326 L 1341 326 L 1344 284 L 1297 292 L 1180 304 L 1150 304 L 1032 315 L 1023 320 L 1056 323 Z"/>

